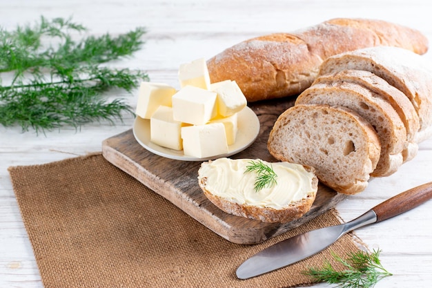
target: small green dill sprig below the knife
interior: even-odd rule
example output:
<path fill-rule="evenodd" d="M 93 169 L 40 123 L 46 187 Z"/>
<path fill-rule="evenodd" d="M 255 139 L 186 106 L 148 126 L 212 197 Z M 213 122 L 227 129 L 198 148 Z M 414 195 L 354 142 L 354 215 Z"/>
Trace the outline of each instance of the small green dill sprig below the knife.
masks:
<path fill-rule="evenodd" d="M 391 276 L 380 262 L 380 250 L 372 253 L 357 251 L 350 253 L 346 260 L 332 253 L 337 262 L 342 263 L 346 269 L 337 271 L 330 262 L 326 261 L 322 268 L 310 268 L 304 273 L 311 276 L 316 282 L 337 284 L 340 288 L 371 288 L 386 276 Z"/>

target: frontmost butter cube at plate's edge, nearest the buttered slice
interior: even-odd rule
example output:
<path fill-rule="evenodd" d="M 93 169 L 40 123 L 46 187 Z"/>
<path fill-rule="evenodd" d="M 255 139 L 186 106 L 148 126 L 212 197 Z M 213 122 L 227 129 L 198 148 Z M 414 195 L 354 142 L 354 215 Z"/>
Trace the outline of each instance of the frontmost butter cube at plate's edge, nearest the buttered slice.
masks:
<path fill-rule="evenodd" d="M 222 123 L 182 127 L 181 138 L 184 155 L 204 158 L 228 153 L 225 127 Z"/>

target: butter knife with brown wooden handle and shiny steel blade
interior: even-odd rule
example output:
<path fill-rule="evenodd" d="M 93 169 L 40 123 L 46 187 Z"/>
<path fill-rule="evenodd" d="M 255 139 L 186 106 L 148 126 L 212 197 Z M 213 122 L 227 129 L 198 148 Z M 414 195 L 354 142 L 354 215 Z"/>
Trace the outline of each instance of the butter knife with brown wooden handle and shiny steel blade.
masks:
<path fill-rule="evenodd" d="M 247 279 L 304 260 L 326 249 L 354 229 L 384 221 L 432 198 L 432 182 L 395 195 L 350 222 L 316 229 L 288 238 L 255 254 L 237 269 L 237 278 Z"/>

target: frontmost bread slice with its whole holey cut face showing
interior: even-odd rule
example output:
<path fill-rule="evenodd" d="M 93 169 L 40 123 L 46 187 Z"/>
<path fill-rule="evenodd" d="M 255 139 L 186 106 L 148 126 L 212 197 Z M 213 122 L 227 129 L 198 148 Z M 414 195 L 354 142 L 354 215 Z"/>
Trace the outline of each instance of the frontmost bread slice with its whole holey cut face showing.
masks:
<path fill-rule="evenodd" d="M 313 166 L 321 182 L 345 194 L 366 189 L 380 149 L 371 124 L 341 106 L 295 105 L 278 117 L 268 137 L 277 160 Z"/>

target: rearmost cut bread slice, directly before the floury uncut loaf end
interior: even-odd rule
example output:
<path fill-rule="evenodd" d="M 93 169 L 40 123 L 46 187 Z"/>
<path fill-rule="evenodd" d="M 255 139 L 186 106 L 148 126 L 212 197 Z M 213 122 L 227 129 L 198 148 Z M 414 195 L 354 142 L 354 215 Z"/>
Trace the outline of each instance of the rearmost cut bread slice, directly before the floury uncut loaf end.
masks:
<path fill-rule="evenodd" d="M 372 91 L 374 96 L 382 97 L 395 109 L 404 123 L 406 130 L 406 147 L 402 151 L 404 162 L 412 160 L 418 153 L 418 144 L 414 142 L 415 133 L 420 128 L 418 115 L 413 104 L 400 90 L 391 86 L 377 75 L 364 70 L 342 70 L 337 73 L 322 75 L 314 84 L 332 84 L 334 81 L 358 84 Z"/>

